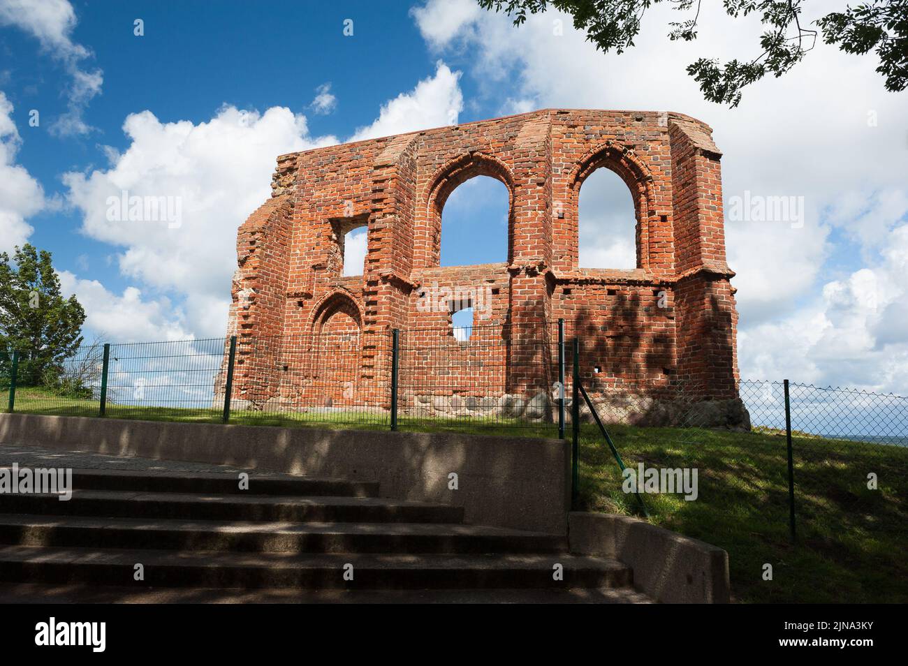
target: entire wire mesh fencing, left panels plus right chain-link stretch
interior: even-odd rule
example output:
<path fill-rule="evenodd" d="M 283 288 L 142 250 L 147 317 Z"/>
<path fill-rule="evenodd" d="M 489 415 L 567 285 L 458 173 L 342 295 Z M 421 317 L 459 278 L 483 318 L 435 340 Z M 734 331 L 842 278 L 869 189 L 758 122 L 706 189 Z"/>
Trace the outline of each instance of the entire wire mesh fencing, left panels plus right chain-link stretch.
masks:
<path fill-rule="evenodd" d="M 221 422 L 229 404 L 235 424 L 389 428 L 396 418 L 400 429 L 547 437 L 558 436 L 563 396 L 570 438 L 576 334 L 581 383 L 624 464 L 641 484 L 650 469 L 678 473 L 681 492 L 642 494 L 657 523 L 711 543 L 746 525 L 788 544 L 794 507 L 799 543 L 840 560 L 873 553 L 881 571 L 908 577 L 905 397 L 791 383 L 786 401 L 785 382 L 742 380 L 705 399 L 670 373 L 635 385 L 595 332 L 566 330 L 559 362 L 558 323 L 536 330 L 411 328 L 396 345 L 390 331 L 357 327 L 240 335 L 232 355 L 231 338 L 94 345 L 64 358 L 20 353 L 15 377 L 6 351 L 0 390 L 16 412 L 38 414 Z M 635 512 L 593 411 L 577 412 L 578 508 Z"/>

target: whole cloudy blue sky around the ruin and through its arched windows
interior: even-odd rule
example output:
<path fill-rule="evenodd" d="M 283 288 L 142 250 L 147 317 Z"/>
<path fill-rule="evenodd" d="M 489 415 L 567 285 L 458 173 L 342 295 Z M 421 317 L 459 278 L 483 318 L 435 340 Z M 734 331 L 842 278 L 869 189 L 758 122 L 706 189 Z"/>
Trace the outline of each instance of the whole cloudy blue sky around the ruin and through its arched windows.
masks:
<path fill-rule="evenodd" d="M 568 17 L 518 29 L 472 0 L 0 0 L 0 250 L 51 250 L 90 334 L 220 335 L 235 231 L 281 152 L 546 107 L 667 109 L 714 127 L 726 213 L 745 195 L 803 204 L 797 220 L 726 220 L 742 374 L 904 394 L 906 95 L 872 56 L 819 44 L 738 109 L 706 103 L 686 64 L 753 55 L 760 26 L 710 4 L 696 43 L 670 43 L 677 19 L 656 7 L 617 56 Z M 619 268 L 633 230 L 610 176 L 581 191 L 581 262 Z M 182 197 L 182 225 L 106 220 L 122 189 Z M 504 260 L 506 206 L 495 181 L 455 191 L 442 263 Z"/>

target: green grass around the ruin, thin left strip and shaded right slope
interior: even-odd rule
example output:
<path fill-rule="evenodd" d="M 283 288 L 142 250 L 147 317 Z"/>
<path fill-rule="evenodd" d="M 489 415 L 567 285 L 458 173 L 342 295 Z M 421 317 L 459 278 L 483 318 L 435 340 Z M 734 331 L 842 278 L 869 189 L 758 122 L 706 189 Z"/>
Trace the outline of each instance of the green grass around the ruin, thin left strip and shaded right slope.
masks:
<path fill-rule="evenodd" d="M 5 406 L 5 405 L 4 405 Z M 16 411 L 97 416 L 91 400 L 19 388 Z M 107 416 L 218 423 L 219 410 L 108 405 Z M 363 423 L 363 419 L 370 419 Z M 268 414 L 235 410 L 231 423 L 385 429 L 388 417 L 356 413 Z M 439 422 L 401 417 L 410 431 L 498 436 L 557 436 L 551 424 L 475 419 Z M 698 428 L 609 426 L 627 466 L 696 467 L 699 496 L 645 495 L 650 520 L 724 548 L 732 593 L 741 602 L 908 601 L 908 449 L 795 434 L 798 540 L 788 525 L 784 433 L 733 433 Z M 868 490 L 867 474 L 879 480 Z M 621 475 L 596 426 L 580 438 L 580 506 L 635 514 L 636 499 L 621 490 Z M 763 580 L 772 564 L 773 580 Z"/>

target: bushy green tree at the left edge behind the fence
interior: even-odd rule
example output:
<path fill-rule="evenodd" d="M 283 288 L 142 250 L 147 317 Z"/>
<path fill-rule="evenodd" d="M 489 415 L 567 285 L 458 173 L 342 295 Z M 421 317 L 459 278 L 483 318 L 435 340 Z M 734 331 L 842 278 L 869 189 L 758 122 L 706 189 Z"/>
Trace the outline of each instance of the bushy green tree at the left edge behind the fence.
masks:
<path fill-rule="evenodd" d="M 13 262 L 0 252 L 0 364 L 8 365 L 17 350 L 20 381 L 35 385 L 59 375 L 63 361 L 75 355 L 85 311 L 75 296 L 60 295 L 50 252 L 26 243 L 15 249 Z"/>

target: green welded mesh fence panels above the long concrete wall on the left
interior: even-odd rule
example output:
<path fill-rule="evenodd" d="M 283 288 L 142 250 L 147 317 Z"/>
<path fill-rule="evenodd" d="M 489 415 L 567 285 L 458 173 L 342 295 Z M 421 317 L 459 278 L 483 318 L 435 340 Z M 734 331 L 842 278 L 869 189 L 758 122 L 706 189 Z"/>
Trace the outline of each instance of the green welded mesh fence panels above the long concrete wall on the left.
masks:
<path fill-rule="evenodd" d="M 3 389 L 16 411 L 45 414 L 384 428 L 396 407 L 400 428 L 557 436 L 558 323 L 535 330 L 528 338 L 500 324 L 410 328 L 396 346 L 390 331 L 355 327 L 243 335 L 232 356 L 231 338 L 85 346 L 55 366 L 53 380 L 35 379 L 41 373 L 20 359 L 15 391 L 8 381 Z M 0 363 L 0 377 L 11 365 Z"/>

